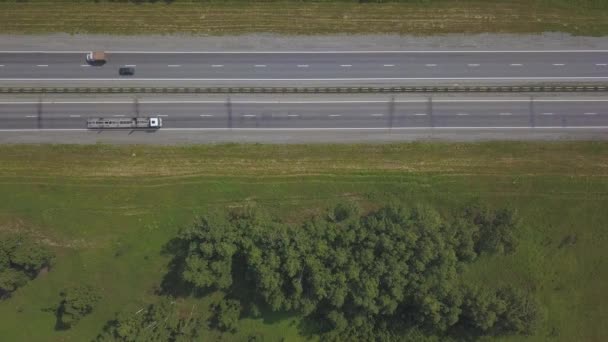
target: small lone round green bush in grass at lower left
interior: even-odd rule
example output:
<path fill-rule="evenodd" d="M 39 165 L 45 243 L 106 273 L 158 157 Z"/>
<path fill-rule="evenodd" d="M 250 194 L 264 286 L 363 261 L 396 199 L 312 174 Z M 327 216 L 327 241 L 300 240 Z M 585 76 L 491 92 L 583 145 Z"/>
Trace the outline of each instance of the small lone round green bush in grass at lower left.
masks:
<path fill-rule="evenodd" d="M 93 312 L 95 304 L 101 299 L 97 289 L 87 286 L 75 286 L 61 292 L 61 302 L 57 307 L 57 327 L 69 329 L 78 321 Z"/>

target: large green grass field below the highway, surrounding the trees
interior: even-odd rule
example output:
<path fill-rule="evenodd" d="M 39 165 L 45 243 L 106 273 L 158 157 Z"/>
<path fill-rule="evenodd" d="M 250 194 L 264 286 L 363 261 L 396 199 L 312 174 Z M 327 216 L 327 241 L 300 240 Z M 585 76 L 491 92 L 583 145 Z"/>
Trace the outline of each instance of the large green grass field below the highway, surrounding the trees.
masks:
<path fill-rule="evenodd" d="M 255 205 L 295 222 L 344 198 L 364 207 L 424 202 L 445 213 L 472 199 L 517 208 L 524 220 L 517 252 L 482 258 L 466 279 L 536 291 L 545 318 L 526 341 L 608 338 L 608 144 L 600 142 L 2 145 L 0 229 L 27 231 L 57 258 L 49 273 L 0 302 L 0 336 L 90 340 L 114 312 L 154 300 L 168 262 L 162 246 L 206 211 Z M 54 331 L 45 309 L 80 282 L 101 288 L 101 304 L 71 330 Z M 205 317 L 212 299 L 185 305 Z M 297 323 L 246 319 L 224 338 L 294 341 Z"/>

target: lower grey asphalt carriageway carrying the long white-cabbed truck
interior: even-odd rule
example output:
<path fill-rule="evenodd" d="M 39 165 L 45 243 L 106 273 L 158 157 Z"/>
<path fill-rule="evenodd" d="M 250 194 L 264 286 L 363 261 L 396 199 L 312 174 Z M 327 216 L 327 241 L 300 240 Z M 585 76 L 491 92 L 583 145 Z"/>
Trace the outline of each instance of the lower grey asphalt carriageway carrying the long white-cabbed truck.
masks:
<path fill-rule="evenodd" d="M 3 100 L 0 131 L 85 130 L 87 118 L 134 116 L 160 116 L 162 131 L 574 128 L 608 133 L 608 98 Z"/>

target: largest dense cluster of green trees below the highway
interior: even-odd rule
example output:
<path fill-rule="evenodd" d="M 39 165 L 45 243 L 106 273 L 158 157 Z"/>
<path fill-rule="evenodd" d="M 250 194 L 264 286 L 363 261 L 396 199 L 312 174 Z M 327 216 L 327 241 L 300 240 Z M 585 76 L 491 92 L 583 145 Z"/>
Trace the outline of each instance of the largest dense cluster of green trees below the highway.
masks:
<path fill-rule="evenodd" d="M 334 340 L 528 334 L 538 318 L 530 294 L 458 276 L 480 254 L 512 252 L 517 224 L 512 211 L 480 205 L 448 222 L 428 207 L 361 215 L 347 203 L 298 227 L 245 210 L 183 230 L 172 267 L 194 291 L 226 293 L 212 322 L 223 330 L 263 307 L 301 313 Z"/>

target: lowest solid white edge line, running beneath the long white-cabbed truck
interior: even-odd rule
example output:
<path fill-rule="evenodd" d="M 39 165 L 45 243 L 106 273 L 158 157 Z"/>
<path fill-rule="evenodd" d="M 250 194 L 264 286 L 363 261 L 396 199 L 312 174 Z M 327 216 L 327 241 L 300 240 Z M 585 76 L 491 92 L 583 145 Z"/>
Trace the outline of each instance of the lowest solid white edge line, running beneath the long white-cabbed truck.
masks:
<path fill-rule="evenodd" d="M 570 130 L 570 129 L 592 129 L 592 130 L 604 130 L 608 129 L 608 126 L 505 126 L 505 127 L 367 127 L 367 128 L 356 128 L 356 127 L 337 127 L 337 128 L 317 128 L 317 127 L 306 127 L 306 128 L 162 128 L 158 132 L 162 131 L 391 131 L 391 130 Z M 0 132 L 45 132 L 45 131 L 57 131 L 57 132 L 98 132 L 104 131 L 103 129 L 86 129 L 86 128 L 48 128 L 48 129 L 37 129 L 37 128 L 16 128 L 16 129 L 0 129 Z M 129 130 L 108 130 L 108 131 L 129 131 Z"/>

